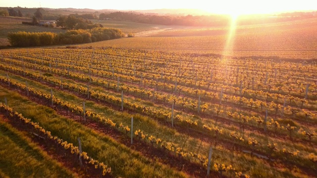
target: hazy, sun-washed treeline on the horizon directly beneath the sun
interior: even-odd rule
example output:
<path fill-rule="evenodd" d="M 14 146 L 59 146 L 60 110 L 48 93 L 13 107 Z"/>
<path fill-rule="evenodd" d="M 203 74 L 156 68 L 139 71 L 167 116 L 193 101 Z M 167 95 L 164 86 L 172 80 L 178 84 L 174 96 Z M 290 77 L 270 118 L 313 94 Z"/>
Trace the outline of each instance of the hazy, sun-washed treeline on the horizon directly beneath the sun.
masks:
<path fill-rule="evenodd" d="M 251 25 L 274 22 L 285 22 L 316 17 L 316 12 L 299 12 L 274 16 L 272 15 L 245 15 L 238 18 L 237 25 Z M 187 16 L 166 16 L 152 15 L 135 12 L 111 12 L 99 15 L 100 20 L 130 21 L 158 25 L 183 25 L 183 26 L 223 26 L 230 25 L 229 15 L 187 15 Z"/>

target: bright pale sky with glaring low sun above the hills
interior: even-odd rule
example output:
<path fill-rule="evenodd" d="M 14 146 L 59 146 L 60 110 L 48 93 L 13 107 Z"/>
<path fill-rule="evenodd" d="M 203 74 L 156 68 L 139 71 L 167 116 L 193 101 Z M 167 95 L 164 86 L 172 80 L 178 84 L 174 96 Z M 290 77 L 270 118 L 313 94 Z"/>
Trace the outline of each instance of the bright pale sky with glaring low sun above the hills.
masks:
<path fill-rule="evenodd" d="M 193 8 L 219 14 L 259 14 L 317 10 L 317 0 L 1 0 L 1 7 L 91 8 L 118 10 Z"/>

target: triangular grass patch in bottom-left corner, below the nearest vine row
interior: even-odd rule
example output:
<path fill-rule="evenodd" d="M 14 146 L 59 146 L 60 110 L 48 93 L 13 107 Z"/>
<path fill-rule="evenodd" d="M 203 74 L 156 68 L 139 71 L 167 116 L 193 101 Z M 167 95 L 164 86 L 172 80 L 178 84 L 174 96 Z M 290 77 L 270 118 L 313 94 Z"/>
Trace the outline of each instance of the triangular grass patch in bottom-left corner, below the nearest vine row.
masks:
<path fill-rule="evenodd" d="M 0 119 L 0 177 L 70 178 L 77 177 L 24 133 Z"/>

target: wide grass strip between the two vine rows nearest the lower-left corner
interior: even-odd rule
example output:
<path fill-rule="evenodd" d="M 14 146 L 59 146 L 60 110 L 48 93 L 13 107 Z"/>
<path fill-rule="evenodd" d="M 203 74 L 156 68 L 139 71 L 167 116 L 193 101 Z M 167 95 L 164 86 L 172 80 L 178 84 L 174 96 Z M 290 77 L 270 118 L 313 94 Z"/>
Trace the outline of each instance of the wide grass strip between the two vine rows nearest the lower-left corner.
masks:
<path fill-rule="evenodd" d="M 0 88 L 0 97 L 7 97 L 8 105 L 26 118 L 38 122 L 53 135 L 78 145 L 77 137 L 82 139 L 83 151 L 91 157 L 111 167 L 117 177 L 187 177 L 165 165 L 153 162 L 140 153 L 116 142 L 105 134 L 97 133 L 73 120 L 62 117 L 46 106 L 39 105 L 19 94 Z"/>

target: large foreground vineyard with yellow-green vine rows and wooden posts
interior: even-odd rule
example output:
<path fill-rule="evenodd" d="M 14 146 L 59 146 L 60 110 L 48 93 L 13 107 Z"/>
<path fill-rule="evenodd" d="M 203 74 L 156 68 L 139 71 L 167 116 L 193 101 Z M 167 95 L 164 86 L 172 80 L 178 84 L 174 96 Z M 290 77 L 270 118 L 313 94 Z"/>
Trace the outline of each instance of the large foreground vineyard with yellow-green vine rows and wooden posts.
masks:
<path fill-rule="evenodd" d="M 112 47 L 1 50 L 0 142 L 22 151 L 0 156 L 33 157 L 35 177 L 316 177 L 316 71 Z M 30 168 L 16 169 L 0 177 Z"/>

